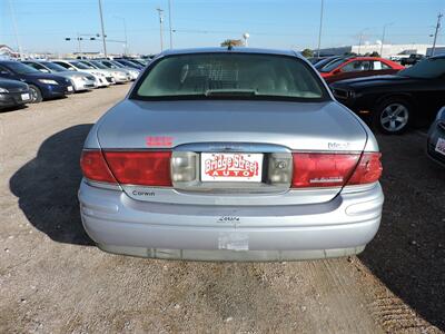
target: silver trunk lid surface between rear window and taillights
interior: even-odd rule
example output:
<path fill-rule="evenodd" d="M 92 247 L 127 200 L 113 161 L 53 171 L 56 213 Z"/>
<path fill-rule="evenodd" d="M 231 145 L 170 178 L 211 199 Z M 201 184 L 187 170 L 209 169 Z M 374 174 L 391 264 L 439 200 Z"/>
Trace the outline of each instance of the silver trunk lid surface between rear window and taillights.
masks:
<path fill-rule="evenodd" d="M 126 99 L 98 125 L 102 148 L 147 148 L 190 143 L 275 144 L 298 150 L 362 151 L 367 132 L 336 101 L 138 101 Z"/>

